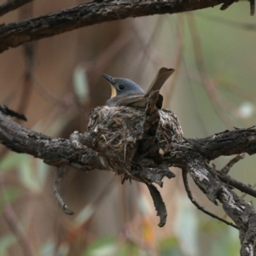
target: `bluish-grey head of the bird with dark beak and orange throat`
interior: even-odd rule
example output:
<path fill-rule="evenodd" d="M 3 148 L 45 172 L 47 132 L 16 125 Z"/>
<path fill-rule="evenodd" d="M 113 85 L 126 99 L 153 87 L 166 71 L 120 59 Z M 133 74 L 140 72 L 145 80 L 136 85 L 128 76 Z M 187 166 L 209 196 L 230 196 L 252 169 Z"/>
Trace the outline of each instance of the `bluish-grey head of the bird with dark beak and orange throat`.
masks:
<path fill-rule="evenodd" d="M 118 79 L 109 76 L 106 73 L 102 74 L 104 79 L 108 80 L 111 85 L 111 97 L 129 95 L 130 93 L 144 94 L 144 90 L 136 83 L 129 79 Z"/>

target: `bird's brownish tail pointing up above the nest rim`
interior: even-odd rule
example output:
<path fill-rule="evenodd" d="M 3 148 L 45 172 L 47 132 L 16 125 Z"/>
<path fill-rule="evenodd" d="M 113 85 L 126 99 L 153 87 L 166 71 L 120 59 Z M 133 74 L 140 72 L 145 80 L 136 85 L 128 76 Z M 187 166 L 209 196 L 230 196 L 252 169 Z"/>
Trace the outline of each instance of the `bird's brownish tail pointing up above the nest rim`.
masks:
<path fill-rule="evenodd" d="M 166 80 L 170 78 L 172 73 L 174 73 L 173 68 L 161 67 L 156 76 L 154 77 L 153 82 L 148 87 L 145 96 L 149 96 L 151 91 L 160 90 L 161 87 L 166 83 Z"/>

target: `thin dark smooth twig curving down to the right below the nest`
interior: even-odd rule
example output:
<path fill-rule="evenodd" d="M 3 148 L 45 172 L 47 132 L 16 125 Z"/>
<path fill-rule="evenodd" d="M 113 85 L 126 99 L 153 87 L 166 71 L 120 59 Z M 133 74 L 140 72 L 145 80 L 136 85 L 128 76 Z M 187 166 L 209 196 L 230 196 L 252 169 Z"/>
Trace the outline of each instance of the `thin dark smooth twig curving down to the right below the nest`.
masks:
<path fill-rule="evenodd" d="M 193 195 L 191 193 L 191 190 L 189 189 L 189 182 L 188 182 L 188 177 L 187 177 L 188 171 L 185 168 L 183 168 L 182 172 L 183 172 L 184 187 L 186 189 L 186 192 L 187 192 L 187 194 L 189 196 L 190 201 L 195 205 L 195 207 L 197 207 L 198 210 L 201 210 L 201 212 L 204 212 L 207 215 L 211 216 L 212 218 L 217 218 L 218 220 L 224 222 L 224 224 L 228 224 L 228 225 L 230 225 L 230 226 L 232 226 L 232 227 L 234 227 L 234 228 L 236 228 L 238 230 L 236 224 L 232 224 L 232 223 L 224 220 L 223 218 L 218 217 L 217 215 L 213 214 L 212 212 L 208 212 L 207 210 L 205 210 L 204 207 L 201 207 L 201 205 L 199 205 L 197 201 L 195 201 L 195 199 L 194 199 L 194 197 L 193 197 Z"/>

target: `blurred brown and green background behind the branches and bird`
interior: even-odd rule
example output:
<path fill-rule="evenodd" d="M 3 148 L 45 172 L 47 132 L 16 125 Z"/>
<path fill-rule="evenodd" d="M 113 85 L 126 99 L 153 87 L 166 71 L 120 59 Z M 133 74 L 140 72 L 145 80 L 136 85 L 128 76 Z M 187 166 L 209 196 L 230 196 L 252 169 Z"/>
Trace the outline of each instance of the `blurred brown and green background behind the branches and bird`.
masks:
<path fill-rule="evenodd" d="M 5 15 L 1 23 L 79 3 L 84 1 L 35 1 Z M 176 72 L 161 93 L 164 108 L 177 114 L 184 137 L 252 126 L 255 19 L 249 4 L 239 2 L 225 11 L 215 7 L 108 22 L 9 49 L 0 56 L 0 102 L 25 113 L 28 121 L 22 125 L 33 131 L 68 138 L 73 131 L 86 131 L 90 109 L 110 96 L 102 73 L 147 89 L 160 67 L 173 67 Z M 54 167 L 2 145 L 0 150 L 1 256 L 239 255 L 237 230 L 192 205 L 179 169 L 172 168 L 177 177 L 165 180 L 160 189 L 168 217 L 159 228 L 143 184 L 121 185 L 111 172 L 69 168 L 61 195 L 75 214 L 67 216 L 55 201 Z M 220 169 L 230 159 L 214 164 Z M 246 155 L 230 175 L 255 185 L 255 161 Z M 191 179 L 189 184 L 201 206 L 228 219 Z"/>

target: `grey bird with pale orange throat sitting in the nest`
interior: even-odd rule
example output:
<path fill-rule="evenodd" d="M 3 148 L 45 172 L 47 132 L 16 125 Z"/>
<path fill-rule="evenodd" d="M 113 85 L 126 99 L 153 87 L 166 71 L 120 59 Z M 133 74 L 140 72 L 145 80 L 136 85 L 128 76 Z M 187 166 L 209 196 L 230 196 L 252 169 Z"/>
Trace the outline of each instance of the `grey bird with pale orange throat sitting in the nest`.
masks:
<path fill-rule="evenodd" d="M 166 80 L 174 73 L 174 69 L 161 67 L 154 80 L 145 92 L 138 84 L 130 79 L 113 78 L 106 73 L 102 73 L 104 79 L 111 85 L 111 97 L 105 103 L 108 107 L 131 106 L 145 108 L 148 96 L 152 91 L 160 90 Z M 163 96 L 159 95 L 156 103 L 157 108 L 162 107 Z"/>

